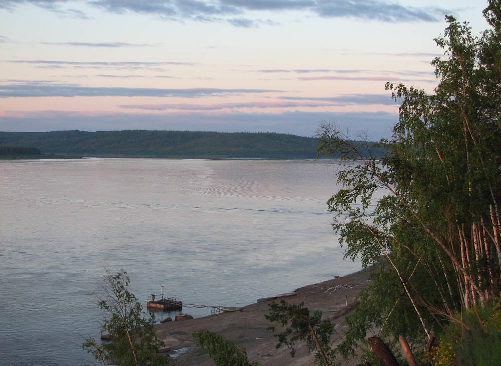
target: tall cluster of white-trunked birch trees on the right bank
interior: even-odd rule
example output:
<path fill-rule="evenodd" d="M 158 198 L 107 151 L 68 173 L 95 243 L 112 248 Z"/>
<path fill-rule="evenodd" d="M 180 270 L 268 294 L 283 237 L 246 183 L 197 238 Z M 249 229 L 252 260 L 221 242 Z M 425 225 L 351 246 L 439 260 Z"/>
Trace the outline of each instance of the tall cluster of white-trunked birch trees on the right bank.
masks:
<path fill-rule="evenodd" d="M 399 335 L 423 345 L 454 313 L 499 293 L 501 3 L 489 1 L 484 16 L 491 28 L 481 38 L 446 17 L 433 94 L 386 85 L 401 103 L 399 123 L 390 140 L 367 143 L 383 157 L 321 126 L 319 152 L 342 153 L 345 167 L 344 188 L 328 201 L 345 256 L 381 263 L 346 319 L 343 355 L 365 347 L 374 328 L 390 346 Z"/>

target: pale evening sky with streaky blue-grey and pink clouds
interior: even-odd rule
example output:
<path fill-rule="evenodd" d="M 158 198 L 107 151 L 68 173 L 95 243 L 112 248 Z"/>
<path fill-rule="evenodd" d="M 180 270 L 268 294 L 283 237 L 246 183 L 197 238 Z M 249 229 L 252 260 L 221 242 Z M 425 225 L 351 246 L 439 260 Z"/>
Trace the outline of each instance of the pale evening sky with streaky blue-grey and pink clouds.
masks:
<path fill-rule="evenodd" d="M 0 0 L 0 131 L 391 136 L 445 15 L 486 0 Z"/>

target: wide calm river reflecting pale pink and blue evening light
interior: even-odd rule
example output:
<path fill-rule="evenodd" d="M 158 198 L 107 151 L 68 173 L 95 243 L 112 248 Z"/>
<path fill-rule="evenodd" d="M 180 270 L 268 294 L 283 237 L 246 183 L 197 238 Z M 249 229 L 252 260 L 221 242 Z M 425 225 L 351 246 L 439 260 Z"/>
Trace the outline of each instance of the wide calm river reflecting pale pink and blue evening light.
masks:
<path fill-rule="evenodd" d="M 84 365 L 92 292 L 124 269 L 195 317 L 361 268 L 343 260 L 325 160 L 0 161 L 0 364 Z M 166 316 L 157 314 L 158 318 Z"/>

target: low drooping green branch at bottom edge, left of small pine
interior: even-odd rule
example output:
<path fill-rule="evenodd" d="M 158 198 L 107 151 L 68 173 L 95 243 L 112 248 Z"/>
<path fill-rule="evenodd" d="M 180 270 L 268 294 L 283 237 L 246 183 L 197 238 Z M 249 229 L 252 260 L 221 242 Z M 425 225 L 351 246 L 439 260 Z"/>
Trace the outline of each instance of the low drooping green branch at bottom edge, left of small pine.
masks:
<path fill-rule="evenodd" d="M 200 347 L 207 347 L 209 357 L 216 366 L 258 366 L 258 362 L 249 362 L 245 348 L 210 330 L 201 329 L 193 332 L 193 340 Z"/>

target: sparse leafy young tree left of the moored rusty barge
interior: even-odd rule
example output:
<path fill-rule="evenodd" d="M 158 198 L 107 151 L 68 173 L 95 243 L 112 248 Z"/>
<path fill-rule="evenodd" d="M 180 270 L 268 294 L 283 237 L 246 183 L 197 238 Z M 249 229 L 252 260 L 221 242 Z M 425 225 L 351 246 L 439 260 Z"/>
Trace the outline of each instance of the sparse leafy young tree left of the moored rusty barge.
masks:
<path fill-rule="evenodd" d="M 153 325 L 145 319 L 141 303 L 127 286 L 127 272 L 115 275 L 106 270 L 104 284 L 99 291 L 100 309 L 106 315 L 101 324 L 101 334 L 110 334 L 111 342 L 97 344 L 89 337 L 82 348 L 91 353 L 103 365 L 163 366 L 171 364 L 169 357 L 158 352 L 165 343 L 157 338 Z"/>

